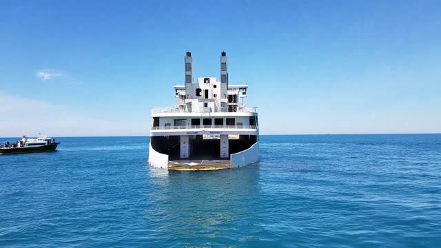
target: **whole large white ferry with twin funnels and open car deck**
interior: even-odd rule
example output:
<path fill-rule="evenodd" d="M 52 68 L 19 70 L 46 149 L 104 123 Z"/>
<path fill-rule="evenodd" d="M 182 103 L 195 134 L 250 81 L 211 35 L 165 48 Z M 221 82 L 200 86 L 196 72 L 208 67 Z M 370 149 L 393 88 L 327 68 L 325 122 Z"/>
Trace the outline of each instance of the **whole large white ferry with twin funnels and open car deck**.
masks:
<path fill-rule="evenodd" d="M 259 160 L 256 107 L 248 85 L 229 85 L 227 54 L 220 55 L 220 82 L 194 82 L 193 58 L 184 57 L 185 83 L 175 85 L 176 105 L 152 109 L 149 164 L 169 170 L 229 169 Z"/>

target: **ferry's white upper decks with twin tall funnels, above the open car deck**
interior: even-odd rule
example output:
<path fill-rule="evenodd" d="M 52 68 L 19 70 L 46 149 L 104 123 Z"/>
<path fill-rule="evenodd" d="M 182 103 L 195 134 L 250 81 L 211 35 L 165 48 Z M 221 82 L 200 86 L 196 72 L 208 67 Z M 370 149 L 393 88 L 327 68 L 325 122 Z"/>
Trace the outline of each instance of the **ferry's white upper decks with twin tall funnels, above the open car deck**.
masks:
<path fill-rule="evenodd" d="M 244 103 L 248 85 L 229 85 L 225 52 L 220 56 L 220 81 L 216 77 L 194 81 L 190 52 L 184 62 L 185 83 L 174 85 L 175 105 L 152 108 L 151 135 L 258 134 L 256 107 Z"/>

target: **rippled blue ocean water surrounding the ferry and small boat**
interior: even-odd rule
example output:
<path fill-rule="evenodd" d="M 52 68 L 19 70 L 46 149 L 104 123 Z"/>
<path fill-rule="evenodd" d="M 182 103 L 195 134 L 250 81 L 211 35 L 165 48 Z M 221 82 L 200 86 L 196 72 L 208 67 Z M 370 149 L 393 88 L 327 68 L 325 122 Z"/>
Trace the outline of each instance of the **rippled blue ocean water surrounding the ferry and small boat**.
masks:
<path fill-rule="evenodd" d="M 215 172 L 148 167 L 147 137 L 57 141 L 0 156 L 0 247 L 441 247 L 440 134 L 261 136 Z"/>

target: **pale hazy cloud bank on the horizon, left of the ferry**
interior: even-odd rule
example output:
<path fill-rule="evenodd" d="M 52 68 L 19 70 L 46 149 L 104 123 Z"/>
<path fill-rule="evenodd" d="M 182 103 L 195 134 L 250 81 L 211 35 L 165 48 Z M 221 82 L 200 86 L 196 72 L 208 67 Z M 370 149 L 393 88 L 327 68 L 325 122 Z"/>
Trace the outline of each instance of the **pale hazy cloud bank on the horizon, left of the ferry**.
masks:
<path fill-rule="evenodd" d="M 147 136 L 148 125 L 87 116 L 78 110 L 0 91 L 0 137 L 37 136 Z"/>

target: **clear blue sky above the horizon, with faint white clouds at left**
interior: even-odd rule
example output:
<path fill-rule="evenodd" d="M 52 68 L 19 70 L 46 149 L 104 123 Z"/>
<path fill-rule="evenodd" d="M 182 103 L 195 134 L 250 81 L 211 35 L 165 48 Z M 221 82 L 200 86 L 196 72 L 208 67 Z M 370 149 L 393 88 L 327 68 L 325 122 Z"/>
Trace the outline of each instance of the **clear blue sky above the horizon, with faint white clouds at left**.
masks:
<path fill-rule="evenodd" d="M 148 135 L 185 52 L 218 77 L 223 50 L 261 134 L 441 132 L 440 16 L 440 1 L 0 1 L 0 136 Z"/>

